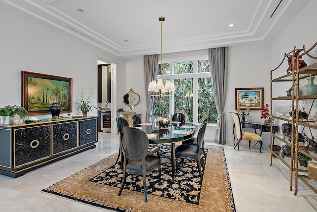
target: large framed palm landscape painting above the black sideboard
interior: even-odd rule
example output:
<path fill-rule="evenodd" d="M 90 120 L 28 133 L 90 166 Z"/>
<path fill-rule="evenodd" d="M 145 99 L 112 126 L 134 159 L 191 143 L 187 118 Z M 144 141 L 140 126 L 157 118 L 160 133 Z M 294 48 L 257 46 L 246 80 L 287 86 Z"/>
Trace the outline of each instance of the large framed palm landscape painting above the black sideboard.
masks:
<path fill-rule="evenodd" d="M 58 103 L 62 113 L 72 112 L 72 78 L 21 71 L 22 106 L 29 115 L 50 114 Z"/>

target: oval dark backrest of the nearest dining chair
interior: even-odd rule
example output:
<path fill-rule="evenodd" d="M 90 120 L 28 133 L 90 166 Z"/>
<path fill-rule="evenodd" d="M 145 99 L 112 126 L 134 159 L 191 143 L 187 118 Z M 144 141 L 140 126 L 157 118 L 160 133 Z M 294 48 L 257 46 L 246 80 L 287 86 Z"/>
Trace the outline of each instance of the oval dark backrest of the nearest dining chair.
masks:
<path fill-rule="evenodd" d="M 120 145 L 125 159 L 142 160 L 147 156 L 149 139 L 142 130 L 124 127 L 120 134 Z"/>

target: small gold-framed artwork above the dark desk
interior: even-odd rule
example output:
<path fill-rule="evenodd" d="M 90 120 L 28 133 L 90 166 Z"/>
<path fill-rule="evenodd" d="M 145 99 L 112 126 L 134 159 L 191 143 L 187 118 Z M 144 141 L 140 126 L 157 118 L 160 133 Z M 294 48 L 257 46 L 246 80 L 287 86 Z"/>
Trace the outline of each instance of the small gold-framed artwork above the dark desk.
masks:
<path fill-rule="evenodd" d="M 264 88 L 236 88 L 235 109 L 262 109 L 264 103 Z"/>

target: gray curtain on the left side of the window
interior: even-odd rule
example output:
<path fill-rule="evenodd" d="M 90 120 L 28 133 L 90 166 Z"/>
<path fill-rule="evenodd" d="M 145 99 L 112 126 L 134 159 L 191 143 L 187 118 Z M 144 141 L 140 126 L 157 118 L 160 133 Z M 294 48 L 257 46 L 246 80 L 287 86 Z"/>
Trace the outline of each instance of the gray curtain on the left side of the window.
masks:
<path fill-rule="evenodd" d="M 145 122 L 149 122 L 149 116 L 152 113 L 153 99 L 151 92 L 148 91 L 149 83 L 157 80 L 158 77 L 159 54 L 145 55 L 144 56 L 144 75 L 145 75 L 145 93 L 147 94 L 147 114 Z"/>

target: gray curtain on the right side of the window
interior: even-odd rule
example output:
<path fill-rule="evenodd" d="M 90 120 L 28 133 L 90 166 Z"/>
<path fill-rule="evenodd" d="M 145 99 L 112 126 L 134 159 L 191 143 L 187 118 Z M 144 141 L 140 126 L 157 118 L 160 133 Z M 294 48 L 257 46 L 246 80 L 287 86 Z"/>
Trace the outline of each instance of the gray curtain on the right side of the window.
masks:
<path fill-rule="evenodd" d="M 208 49 L 214 99 L 218 113 L 216 142 L 226 144 L 224 105 L 227 92 L 228 47 Z"/>

